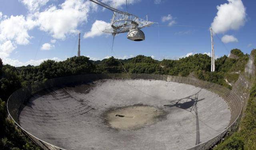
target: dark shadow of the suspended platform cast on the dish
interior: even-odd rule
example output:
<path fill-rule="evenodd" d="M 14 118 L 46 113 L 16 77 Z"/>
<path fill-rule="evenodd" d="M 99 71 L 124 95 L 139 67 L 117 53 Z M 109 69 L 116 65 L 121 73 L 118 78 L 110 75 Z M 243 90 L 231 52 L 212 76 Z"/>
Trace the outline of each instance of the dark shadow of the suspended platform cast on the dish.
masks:
<path fill-rule="evenodd" d="M 200 130 L 199 130 L 199 119 L 198 119 L 198 111 L 197 111 L 197 102 L 202 101 L 205 98 L 198 99 L 198 94 L 201 92 L 202 89 L 200 89 L 196 94 L 190 95 L 188 97 L 184 97 L 181 99 L 176 99 L 176 100 L 166 100 L 170 102 L 170 105 L 164 105 L 165 108 L 162 109 L 167 109 L 170 107 L 178 107 L 180 109 L 184 109 L 186 111 L 189 111 L 191 113 L 195 113 L 196 115 L 196 145 L 200 144 Z"/>

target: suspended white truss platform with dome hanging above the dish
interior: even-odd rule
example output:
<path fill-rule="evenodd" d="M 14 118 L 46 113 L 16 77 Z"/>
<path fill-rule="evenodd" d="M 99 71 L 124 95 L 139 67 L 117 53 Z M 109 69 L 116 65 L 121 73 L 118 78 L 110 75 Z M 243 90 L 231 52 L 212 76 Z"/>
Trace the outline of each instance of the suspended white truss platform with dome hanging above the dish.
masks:
<path fill-rule="evenodd" d="M 142 28 L 148 27 L 154 22 L 138 18 L 133 14 L 129 14 L 128 12 L 122 12 L 107 4 L 104 4 L 98 0 L 90 0 L 102 7 L 108 8 L 114 12 L 113 17 L 111 19 L 111 27 L 107 27 L 103 30 L 104 33 L 111 33 L 112 35 L 117 35 L 119 33 L 129 32 L 127 38 L 132 41 L 143 41 L 145 39 L 145 35 L 143 33 Z"/>

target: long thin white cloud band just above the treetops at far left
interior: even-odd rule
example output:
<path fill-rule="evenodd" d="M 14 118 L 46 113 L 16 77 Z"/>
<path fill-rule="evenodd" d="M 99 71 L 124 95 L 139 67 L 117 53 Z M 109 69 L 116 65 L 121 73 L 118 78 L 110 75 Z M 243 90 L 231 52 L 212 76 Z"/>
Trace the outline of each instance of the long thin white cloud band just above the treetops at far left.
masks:
<path fill-rule="evenodd" d="M 40 65 L 42 62 L 46 61 L 46 60 L 49 60 L 49 58 L 44 58 L 44 59 L 39 59 L 39 60 L 28 60 L 26 62 L 20 62 L 19 60 L 17 59 L 11 59 L 11 58 L 3 58 L 3 64 L 10 64 L 12 66 L 16 66 L 16 67 L 19 67 L 19 66 L 28 66 L 29 64 L 30 65 L 33 65 L 33 66 L 38 66 Z M 54 58 L 50 58 L 50 60 L 54 60 L 54 61 L 62 61 L 62 59 L 60 58 L 57 58 L 57 57 L 54 57 Z"/>

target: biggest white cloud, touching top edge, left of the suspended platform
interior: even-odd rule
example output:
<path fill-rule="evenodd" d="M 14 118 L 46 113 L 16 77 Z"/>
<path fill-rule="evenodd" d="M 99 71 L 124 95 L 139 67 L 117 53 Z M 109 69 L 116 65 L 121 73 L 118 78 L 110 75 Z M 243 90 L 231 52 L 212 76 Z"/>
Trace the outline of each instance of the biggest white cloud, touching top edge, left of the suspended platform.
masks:
<path fill-rule="evenodd" d="M 46 31 L 56 39 L 65 39 L 67 34 L 78 33 L 78 24 L 87 22 L 92 2 L 66 0 L 57 6 L 51 5 L 44 12 L 37 13 L 40 30 Z"/>

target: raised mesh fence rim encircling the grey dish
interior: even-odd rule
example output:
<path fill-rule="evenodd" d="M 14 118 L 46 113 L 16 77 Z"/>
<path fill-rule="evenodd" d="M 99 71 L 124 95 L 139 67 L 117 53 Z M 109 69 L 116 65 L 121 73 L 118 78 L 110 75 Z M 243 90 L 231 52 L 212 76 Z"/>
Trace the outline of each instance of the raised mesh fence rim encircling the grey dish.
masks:
<path fill-rule="evenodd" d="M 85 74 L 78 76 L 68 76 L 61 78 L 54 78 L 47 80 L 46 82 L 38 82 L 34 83 L 26 88 L 21 88 L 14 92 L 8 99 L 7 109 L 11 118 L 14 120 L 16 125 L 22 130 L 24 134 L 29 136 L 32 141 L 34 141 L 38 146 L 40 146 L 44 150 L 62 150 L 50 143 L 44 142 L 29 132 L 22 129 L 19 123 L 19 109 L 23 103 L 25 103 L 29 97 L 37 92 L 52 88 L 52 87 L 62 87 L 68 84 L 76 84 L 76 83 L 86 83 L 99 79 L 109 79 L 109 78 L 132 78 L 132 79 L 152 79 L 152 80 L 164 80 L 170 82 L 178 82 L 183 84 L 190 84 L 196 87 L 200 87 L 206 89 L 208 91 L 214 92 L 220 95 L 225 101 L 228 103 L 231 111 L 231 119 L 230 125 L 227 129 L 211 140 L 200 143 L 192 148 L 188 148 L 187 150 L 207 150 L 212 147 L 214 144 L 219 142 L 223 136 L 226 134 L 230 134 L 237 129 L 238 121 L 240 120 L 241 112 L 242 112 L 242 103 L 239 95 L 236 95 L 231 90 L 220 86 L 218 84 L 214 84 L 211 82 L 206 82 L 194 78 L 180 77 L 180 76 L 168 76 L 168 75 L 158 75 L 158 74 Z"/>

